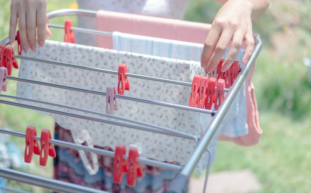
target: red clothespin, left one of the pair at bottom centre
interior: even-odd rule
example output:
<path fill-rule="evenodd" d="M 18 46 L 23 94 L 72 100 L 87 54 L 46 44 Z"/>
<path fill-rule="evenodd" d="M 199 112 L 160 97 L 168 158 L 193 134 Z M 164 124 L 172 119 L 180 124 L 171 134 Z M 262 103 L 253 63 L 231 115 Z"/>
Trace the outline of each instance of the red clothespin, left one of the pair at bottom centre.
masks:
<path fill-rule="evenodd" d="M 126 147 L 123 144 L 118 144 L 116 146 L 116 151 L 114 153 L 114 166 L 113 166 L 113 182 L 121 184 L 123 173 L 128 171 L 127 161 L 124 159 L 126 153 Z"/>

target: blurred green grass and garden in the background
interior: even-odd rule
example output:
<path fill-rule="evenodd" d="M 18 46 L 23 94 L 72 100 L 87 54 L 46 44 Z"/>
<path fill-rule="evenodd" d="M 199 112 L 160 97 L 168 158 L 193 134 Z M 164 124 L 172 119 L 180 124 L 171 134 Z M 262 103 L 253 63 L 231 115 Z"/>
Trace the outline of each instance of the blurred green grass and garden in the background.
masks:
<path fill-rule="evenodd" d="M 66 2 L 66 3 L 64 3 Z M 48 10 L 68 8 L 74 0 L 49 1 Z M 211 23 L 220 5 L 206 0 L 191 0 L 187 20 Z M 0 38 L 7 37 L 9 1 L 0 0 Z M 241 147 L 219 142 L 211 172 L 250 169 L 262 185 L 262 193 L 308 193 L 311 190 L 311 85 L 306 80 L 303 57 L 311 56 L 311 2 L 273 0 L 266 14 L 253 23 L 264 47 L 257 59 L 253 78 L 263 130 L 258 145 Z M 76 18 L 73 17 L 74 22 Z M 62 24 L 63 18 L 51 20 Z M 53 30 L 62 40 L 62 30 Z M 277 41 L 278 40 L 278 41 Z M 280 41 L 281 40 L 281 41 Z M 14 71 L 17 75 L 17 71 Z M 14 95 L 15 82 L 8 81 L 7 93 Z M 24 132 L 27 125 L 53 129 L 50 117 L 34 111 L 0 104 L 0 127 Z M 23 148 L 19 138 L 12 138 Z M 47 167 L 30 171 L 52 177 L 51 159 Z M 23 190 L 40 192 L 11 182 Z M 203 186 L 203 185 L 202 185 Z"/>

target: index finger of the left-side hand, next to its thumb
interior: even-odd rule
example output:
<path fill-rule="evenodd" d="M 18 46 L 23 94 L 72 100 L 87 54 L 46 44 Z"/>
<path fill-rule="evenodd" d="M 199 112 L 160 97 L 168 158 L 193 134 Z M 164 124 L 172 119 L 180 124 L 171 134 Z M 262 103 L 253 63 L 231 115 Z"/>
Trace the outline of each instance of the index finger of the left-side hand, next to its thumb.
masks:
<path fill-rule="evenodd" d="M 37 10 L 37 30 L 38 30 L 38 44 L 39 46 L 43 46 L 46 40 L 46 0 L 42 0 L 39 4 Z"/>

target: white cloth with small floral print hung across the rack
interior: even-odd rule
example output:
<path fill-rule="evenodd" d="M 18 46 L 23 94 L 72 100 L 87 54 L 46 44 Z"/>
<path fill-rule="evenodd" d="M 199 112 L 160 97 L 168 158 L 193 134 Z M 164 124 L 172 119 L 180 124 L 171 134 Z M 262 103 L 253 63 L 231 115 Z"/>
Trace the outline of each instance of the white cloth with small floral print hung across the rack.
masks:
<path fill-rule="evenodd" d="M 126 63 L 129 73 L 183 82 L 192 81 L 190 71 L 194 74 L 203 75 L 204 73 L 199 62 L 161 58 L 54 41 L 47 41 L 43 48 L 37 48 L 34 52 L 23 52 L 22 55 L 114 71 L 118 71 L 120 63 Z M 27 60 L 21 60 L 20 62 L 19 77 L 103 92 L 106 91 L 107 86 L 117 86 L 118 83 L 117 75 Z M 130 90 L 125 91 L 125 96 L 188 105 L 191 93 L 191 87 L 189 86 L 133 77 L 129 77 L 129 82 Z M 23 82 L 18 82 L 17 84 L 17 96 L 66 104 L 102 113 L 105 113 L 106 107 L 105 96 Z M 50 106 L 49 108 L 75 112 L 54 106 Z M 130 145 L 139 145 L 142 147 L 142 157 L 154 158 L 159 161 L 178 161 L 179 164 L 184 164 L 196 145 L 193 140 L 122 128 L 120 126 L 58 114 L 51 115 L 61 127 L 72 131 L 73 137 L 78 144 L 87 141 L 90 146 L 110 146 L 112 149 L 119 143 L 125 144 L 127 147 Z M 93 114 L 87 115 L 100 117 L 99 115 Z M 195 136 L 199 136 L 201 133 L 199 113 L 189 110 L 118 98 L 118 110 L 114 111 L 114 115 L 156 124 Z M 110 120 L 105 117 L 100 118 Z"/>

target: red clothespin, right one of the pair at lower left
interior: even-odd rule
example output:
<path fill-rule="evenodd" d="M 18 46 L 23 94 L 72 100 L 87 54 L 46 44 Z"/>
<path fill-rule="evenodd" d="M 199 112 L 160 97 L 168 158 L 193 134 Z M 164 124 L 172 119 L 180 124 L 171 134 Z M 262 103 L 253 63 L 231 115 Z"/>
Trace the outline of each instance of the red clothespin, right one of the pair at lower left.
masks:
<path fill-rule="evenodd" d="M 52 135 L 49 129 L 43 129 L 41 132 L 41 151 L 40 151 L 40 165 L 46 166 L 48 161 L 48 155 L 56 157 L 56 151 L 54 145 L 50 143 Z"/>

